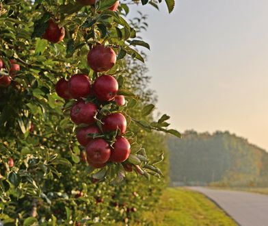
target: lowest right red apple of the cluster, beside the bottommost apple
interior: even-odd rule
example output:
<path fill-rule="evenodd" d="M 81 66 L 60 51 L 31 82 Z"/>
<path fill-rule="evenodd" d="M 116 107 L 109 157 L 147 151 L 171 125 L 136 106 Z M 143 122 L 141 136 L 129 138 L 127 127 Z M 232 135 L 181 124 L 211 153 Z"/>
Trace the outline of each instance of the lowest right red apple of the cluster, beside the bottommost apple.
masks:
<path fill-rule="evenodd" d="M 119 136 L 116 138 L 116 142 L 113 144 L 113 149 L 111 149 L 111 157 L 109 160 L 111 162 L 124 162 L 127 158 L 129 158 L 130 153 L 131 145 L 129 144 L 129 140 Z"/>

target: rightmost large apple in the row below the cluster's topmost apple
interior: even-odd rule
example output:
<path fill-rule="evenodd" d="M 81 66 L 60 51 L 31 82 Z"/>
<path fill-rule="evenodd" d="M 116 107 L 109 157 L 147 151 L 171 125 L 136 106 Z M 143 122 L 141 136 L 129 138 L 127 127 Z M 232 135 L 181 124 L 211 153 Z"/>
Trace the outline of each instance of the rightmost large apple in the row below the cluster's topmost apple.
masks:
<path fill-rule="evenodd" d="M 99 101 L 111 101 L 118 92 L 118 81 L 111 75 L 101 75 L 96 78 L 92 88 Z"/>

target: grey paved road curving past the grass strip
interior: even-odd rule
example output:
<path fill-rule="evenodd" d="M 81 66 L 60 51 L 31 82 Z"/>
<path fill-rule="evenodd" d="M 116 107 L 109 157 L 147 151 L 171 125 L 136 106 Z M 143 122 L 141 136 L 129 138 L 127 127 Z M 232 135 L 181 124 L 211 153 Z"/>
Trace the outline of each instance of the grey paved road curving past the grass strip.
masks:
<path fill-rule="evenodd" d="M 189 187 L 215 201 L 241 226 L 268 226 L 268 195 Z"/>

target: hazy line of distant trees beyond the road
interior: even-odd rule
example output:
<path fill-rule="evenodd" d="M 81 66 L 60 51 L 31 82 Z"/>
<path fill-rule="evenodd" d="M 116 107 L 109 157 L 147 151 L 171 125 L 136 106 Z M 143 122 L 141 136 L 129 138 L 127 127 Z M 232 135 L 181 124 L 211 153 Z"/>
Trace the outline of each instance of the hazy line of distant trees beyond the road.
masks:
<path fill-rule="evenodd" d="M 173 184 L 268 185 L 268 153 L 228 131 L 186 131 L 183 139 L 168 137 L 167 147 Z"/>

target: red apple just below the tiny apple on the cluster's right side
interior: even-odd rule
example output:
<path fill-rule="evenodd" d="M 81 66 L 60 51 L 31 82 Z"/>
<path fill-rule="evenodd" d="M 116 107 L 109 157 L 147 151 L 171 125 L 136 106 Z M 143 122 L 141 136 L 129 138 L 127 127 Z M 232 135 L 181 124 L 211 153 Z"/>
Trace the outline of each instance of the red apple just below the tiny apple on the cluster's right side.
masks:
<path fill-rule="evenodd" d="M 120 129 L 121 134 L 126 132 L 126 118 L 121 113 L 113 113 L 103 118 L 103 131 L 108 133 Z"/>

